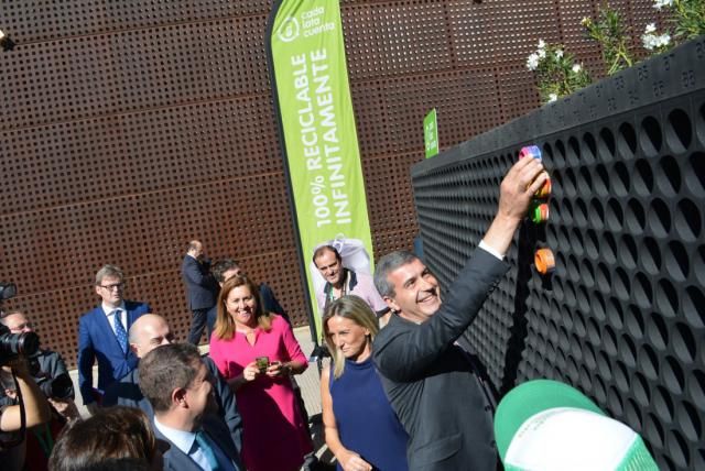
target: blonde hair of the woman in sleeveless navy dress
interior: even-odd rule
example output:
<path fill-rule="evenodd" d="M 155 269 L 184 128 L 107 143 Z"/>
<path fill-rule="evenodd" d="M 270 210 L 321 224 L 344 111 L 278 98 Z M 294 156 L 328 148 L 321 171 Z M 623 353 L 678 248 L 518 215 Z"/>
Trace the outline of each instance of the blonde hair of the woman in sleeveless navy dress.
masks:
<path fill-rule="evenodd" d="M 350 319 L 356 325 L 369 330 L 370 344 L 371 341 L 375 340 L 377 332 L 379 332 L 379 321 L 369 305 L 365 303 L 362 298 L 355 295 L 343 296 L 328 305 L 323 317 L 323 332 L 325 335 L 326 344 L 328 346 L 330 355 L 333 357 L 333 376 L 337 380 L 343 375 L 343 371 L 345 370 L 345 357 L 333 343 L 330 332 L 328 331 L 328 320 L 335 316 Z"/>

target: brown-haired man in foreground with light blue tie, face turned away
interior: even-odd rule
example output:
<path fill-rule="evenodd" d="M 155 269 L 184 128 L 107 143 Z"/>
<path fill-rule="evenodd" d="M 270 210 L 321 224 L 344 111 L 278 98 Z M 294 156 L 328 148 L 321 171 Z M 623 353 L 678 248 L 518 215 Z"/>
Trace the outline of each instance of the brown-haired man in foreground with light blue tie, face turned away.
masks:
<path fill-rule="evenodd" d="M 154 409 L 154 435 L 169 445 L 165 470 L 243 470 L 225 424 L 204 420 L 215 397 L 195 346 L 155 348 L 140 361 L 139 381 Z"/>

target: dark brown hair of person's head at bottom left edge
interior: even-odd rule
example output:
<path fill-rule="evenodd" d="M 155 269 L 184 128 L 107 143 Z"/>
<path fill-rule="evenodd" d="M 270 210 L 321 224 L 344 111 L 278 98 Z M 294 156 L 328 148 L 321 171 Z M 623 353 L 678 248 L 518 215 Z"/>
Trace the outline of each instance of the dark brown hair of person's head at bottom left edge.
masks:
<path fill-rule="evenodd" d="M 155 443 L 150 421 L 141 409 L 108 407 L 62 430 L 50 456 L 48 469 L 98 470 L 109 460 L 128 460 L 149 467 L 156 452 Z"/>

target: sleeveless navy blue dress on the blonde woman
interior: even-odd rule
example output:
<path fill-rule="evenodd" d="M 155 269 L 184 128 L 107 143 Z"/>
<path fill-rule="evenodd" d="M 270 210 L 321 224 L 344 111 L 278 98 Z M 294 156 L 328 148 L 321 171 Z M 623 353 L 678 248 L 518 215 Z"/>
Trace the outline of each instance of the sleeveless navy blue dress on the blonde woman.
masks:
<path fill-rule="evenodd" d="M 372 357 L 361 363 L 346 360 L 343 375 L 337 380 L 332 365 L 329 390 L 345 448 L 358 453 L 375 470 L 408 470 L 409 436 L 384 395 Z"/>

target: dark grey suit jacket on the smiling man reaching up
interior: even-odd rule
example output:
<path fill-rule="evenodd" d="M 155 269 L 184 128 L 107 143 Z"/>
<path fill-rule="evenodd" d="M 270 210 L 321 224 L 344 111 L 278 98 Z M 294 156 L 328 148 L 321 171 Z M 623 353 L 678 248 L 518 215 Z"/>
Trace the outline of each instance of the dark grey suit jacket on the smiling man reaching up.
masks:
<path fill-rule="evenodd" d="M 373 344 L 382 385 L 409 432 L 411 470 L 495 471 L 491 398 L 455 344 L 509 266 L 478 249 L 423 324 L 391 317 Z"/>

